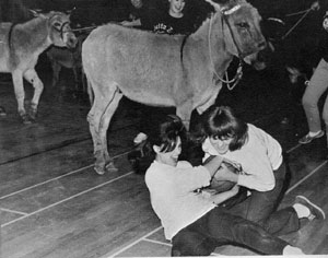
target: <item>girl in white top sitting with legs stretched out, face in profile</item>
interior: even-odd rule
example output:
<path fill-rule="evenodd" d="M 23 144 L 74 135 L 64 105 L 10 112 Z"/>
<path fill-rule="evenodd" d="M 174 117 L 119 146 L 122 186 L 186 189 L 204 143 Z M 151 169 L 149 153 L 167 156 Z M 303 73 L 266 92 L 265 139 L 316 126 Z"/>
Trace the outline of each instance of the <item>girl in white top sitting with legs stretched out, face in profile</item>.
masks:
<path fill-rule="evenodd" d="M 300 248 L 220 206 L 238 192 L 238 186 L 212 196 L 198 191 L 220 174 L 216 171 L 224 159 L 214 156 L 202 166 L 178 161 L 184 132 L 180 118 L 166 117 L 153 144 L 154 161 L 145 173 L 151 204 L 161 220 L 165 237 L 172 241 L 172 255 L 207 256 L 216 246 L 226 244 L 242 245 L 267 255 L 303 255 Z M 226 132 L 227 136 L 232 133 Z M 302 207 L 313 210 L 309 206 Z M 273 225 L 285 226 L 278 220 Z M 298 225 L 293 230 L 298 230 Z"/>

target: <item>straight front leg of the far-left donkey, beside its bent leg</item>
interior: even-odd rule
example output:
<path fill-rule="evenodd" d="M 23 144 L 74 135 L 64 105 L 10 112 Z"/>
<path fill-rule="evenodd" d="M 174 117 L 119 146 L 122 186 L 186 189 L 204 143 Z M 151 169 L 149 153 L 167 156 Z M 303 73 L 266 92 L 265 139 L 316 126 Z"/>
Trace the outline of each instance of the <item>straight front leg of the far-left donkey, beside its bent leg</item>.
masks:
<path fill-rule="evenodd" d="M 21 71 L 12 72 L 12 81 L 14 85 L 15 97 L 17 101 L 17 112 L 24 124 L 31 124 L 24 107 L 25 92 L 23 85 L 23 73 Z"/>

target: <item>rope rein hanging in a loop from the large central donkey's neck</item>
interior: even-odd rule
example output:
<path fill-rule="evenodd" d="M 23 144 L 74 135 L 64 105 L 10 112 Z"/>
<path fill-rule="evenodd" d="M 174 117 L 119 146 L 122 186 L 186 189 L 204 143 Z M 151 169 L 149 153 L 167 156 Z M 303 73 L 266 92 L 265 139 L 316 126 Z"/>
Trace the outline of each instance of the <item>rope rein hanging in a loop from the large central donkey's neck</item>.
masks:
<path fill-rule="evenodd" d="M 225 78 L 226 78 L 226 80 L 224 80 L 224 79 L 223 79 L 222 77 L 220 77 L 220 75 L 218 74 L 218 72 L 215 71 L 214 62 L 213 62 L 213 59 L 212 59 L 212 49 L 211 49 L 211 31 L 212 31 L 212 17 L 213 17 L 213 15 L 212 15 L 211 19 L 210 19 L 210 26 L 209 26 L 209 40 L 208 40 L 208 42 L 209 42 L 209 56 L 210 56 L 210 61 L 211 61 L 211 64 L 212 64 L 214 74 L 216 75 L 216 78 L 218 78 L 221 82 L 223 82 L 223 83 L 226 84 L 227 90 L 232 91 L 232 90 L 238 84 L 238 82 L 241 81 L 241 79 L 242 79 L 242 77 L 243 77 L 243 64 L 244 64 L 244 62 L 243 62 L 243 59 L 242 59 L 242 51 L 241 51 L 241 48 L 238 47 L 238 45 L 237 45 L 237 43 L 236 43 L 236 39 L 235 39 L 235 37 L 234 37 L 234 34 L 233 34 L 232 27 L 231 27 L 231 25 L 230 25 L 227 19 L 225 17 L 226 14 L 224 14 L 224 13 L 222 12 L 222 15 L 223 15 L 223 17 L 222 17 L 222 35 L 223 35 L 223 21 L 225 21 L 225 23 L 226 23 L 226 25 L 227 25 L 227 27 L 229 27 L 229 31 L 230 31 L 230 33 L 231 33 L 231 36 L 232 36 L 232 38 L 233 38 L 234 45 L 235 45 L 235 47 L 236 47 L 236 49 L 237 49 L 237 51 L 238 51 L 239 63 L 238 63 L 238 68 L 237 68 L 237 71 L 236 71 L 236 74 L 234 75 L 234 78 L 233 78 L 232 80 L 229 80 L 229 78 L 227 78 L 227 72 L 225 72 Z M 233 85 L 231 85 L 231 83 L 233 83 Z"/>

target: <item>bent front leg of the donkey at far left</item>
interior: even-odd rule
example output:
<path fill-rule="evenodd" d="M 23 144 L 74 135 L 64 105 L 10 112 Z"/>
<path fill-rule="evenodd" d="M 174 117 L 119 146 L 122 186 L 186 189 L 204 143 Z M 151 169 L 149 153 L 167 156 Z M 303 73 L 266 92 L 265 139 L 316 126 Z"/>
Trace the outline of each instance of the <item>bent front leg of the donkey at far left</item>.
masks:
<path fill-rule="evenodd" d="M 31 102 L 31 107 L 28 110 L 28 115 L 30 118 L 34 121 L 36 118 L 36 114 L 37 114 L 37 105 L 39 102 L 39 97 L 40 94 L 44 91 L 44 84 L 43 82 L 39 80 L 36 71 L 34 69 L 30 69 L 24 73 L 24 78 L 32 83 L 32 85 L 34 86 L 34 95 Z"/>

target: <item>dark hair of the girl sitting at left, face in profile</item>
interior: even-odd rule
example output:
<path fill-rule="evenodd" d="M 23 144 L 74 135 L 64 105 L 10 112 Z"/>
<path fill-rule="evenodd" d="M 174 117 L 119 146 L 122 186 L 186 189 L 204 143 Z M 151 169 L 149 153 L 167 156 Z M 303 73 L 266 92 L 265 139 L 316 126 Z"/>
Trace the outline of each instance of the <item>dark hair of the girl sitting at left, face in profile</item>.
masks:
<path fill-rule="evenodd" d="M 186 129 L 181 119 L 175 115 L 168 115 L 160 125 L 159 136 L 153 139 L 152 144 L 161 146 L 161 152 L 171 152 L 176 148 L 177 137 L 186 138 Z"/>

